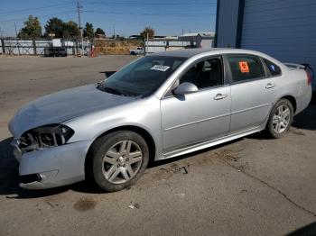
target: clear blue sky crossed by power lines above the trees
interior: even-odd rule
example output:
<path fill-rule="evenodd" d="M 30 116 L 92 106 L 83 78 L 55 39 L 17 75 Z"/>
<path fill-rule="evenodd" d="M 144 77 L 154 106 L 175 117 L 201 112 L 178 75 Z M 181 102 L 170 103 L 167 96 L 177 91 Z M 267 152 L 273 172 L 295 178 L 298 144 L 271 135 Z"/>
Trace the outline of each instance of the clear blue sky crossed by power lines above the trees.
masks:
<path fill-rule="evenodd" d="M 214 32 L 216 0 L 81 0 L 81 23 L 93 23 L 107 35 L 138 34 L 145 26 L 156 35 L 180 35 L 184 32 Z M 38 16 L 43 26 L 51 17 L 78 23 L 76 1 L 7 0 L 0 5 L 0 36 L 14 36 L 29 14 Z"/>

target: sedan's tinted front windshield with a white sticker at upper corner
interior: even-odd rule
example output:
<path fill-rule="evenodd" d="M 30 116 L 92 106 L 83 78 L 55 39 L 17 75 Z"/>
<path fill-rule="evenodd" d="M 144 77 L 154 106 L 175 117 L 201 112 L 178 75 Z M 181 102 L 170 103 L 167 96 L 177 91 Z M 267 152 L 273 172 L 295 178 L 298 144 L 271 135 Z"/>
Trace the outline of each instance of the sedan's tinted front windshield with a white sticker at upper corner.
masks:
<path fill-rule="evenodd" d="M 116 95 L 151 95 L 184 60 L 163 56 L 137 59 L 108 77 L 98 89 Z"/>

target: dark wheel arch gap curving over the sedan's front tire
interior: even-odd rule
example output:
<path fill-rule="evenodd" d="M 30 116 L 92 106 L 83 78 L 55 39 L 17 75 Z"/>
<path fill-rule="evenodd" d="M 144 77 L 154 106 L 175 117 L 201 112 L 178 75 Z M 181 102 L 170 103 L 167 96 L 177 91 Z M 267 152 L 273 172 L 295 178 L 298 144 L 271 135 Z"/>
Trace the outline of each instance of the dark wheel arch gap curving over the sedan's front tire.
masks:
<path fill-rule="evenodd" d="M 141 135 L 144 138 L 144 141 L 147 143 L 148 145 L 148 149 L 149 149 L 149 160 L 153 161 L 155 154 L 156 154 L 156 144 L 155 141 L 153 140 L 153 136 L 150 134 L 150 132 L 146 131 L 144 128 L 140 127 L 140 126 L 136 126 L 136 125 L 122 125 L 122 126 L 118 126 L 116 128 L 112 128 L 110 130 L 107 130 L 106 132 L 101 133 L 100 135 L 98 135 L 98 137 L 92 141 L 92 143 L 90 144 L 89 148 L 88 148 L 88 152 L 86 155 L 86 159 L 84 162 L 84 170 L 85 170 L 85 176 L 87 177 L 88 174 L 88 170 L 91 169 L 91 160 L 92 160 L 92 154 L 91 154 L 91 148 L 93 146 L 93 144 L 98 141 L 98 139 L 100 139 L 101 137 L 104 137 L 105 135 L 111 133 L 111 132 L 118 132 L 118 131 L 127 131 L 127 132 L 136 132 L 139 135 Z"/>

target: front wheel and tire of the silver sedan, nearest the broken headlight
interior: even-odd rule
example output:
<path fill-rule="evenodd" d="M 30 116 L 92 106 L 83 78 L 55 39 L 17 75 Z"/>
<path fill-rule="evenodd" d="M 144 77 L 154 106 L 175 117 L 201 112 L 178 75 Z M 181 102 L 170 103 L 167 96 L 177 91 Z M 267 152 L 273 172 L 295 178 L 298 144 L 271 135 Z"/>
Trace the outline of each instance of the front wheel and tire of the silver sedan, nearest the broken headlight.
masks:
<path fill-rule="evenodd" d="M 128 131 L 109 133 L 92 147 L 94 180 L 107 192 L 122 190 L 136 183 L 148 160 L 148 146 L 141 135 Z"/>

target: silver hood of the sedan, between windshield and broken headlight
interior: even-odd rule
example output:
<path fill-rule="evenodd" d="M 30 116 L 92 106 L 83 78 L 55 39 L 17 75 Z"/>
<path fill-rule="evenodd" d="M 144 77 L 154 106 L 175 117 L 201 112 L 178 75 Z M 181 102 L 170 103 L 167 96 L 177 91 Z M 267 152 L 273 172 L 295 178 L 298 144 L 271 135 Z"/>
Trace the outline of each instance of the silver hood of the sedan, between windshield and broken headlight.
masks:
<path fill-rule="evenodd" d="M 44 95 L 23 106 L 9 123 L 14 137 L 35 127 L 62 123 L 81 115 L 135 101 L 136 97 L 113 95 L 96 85 L 79 86 Z"/>

